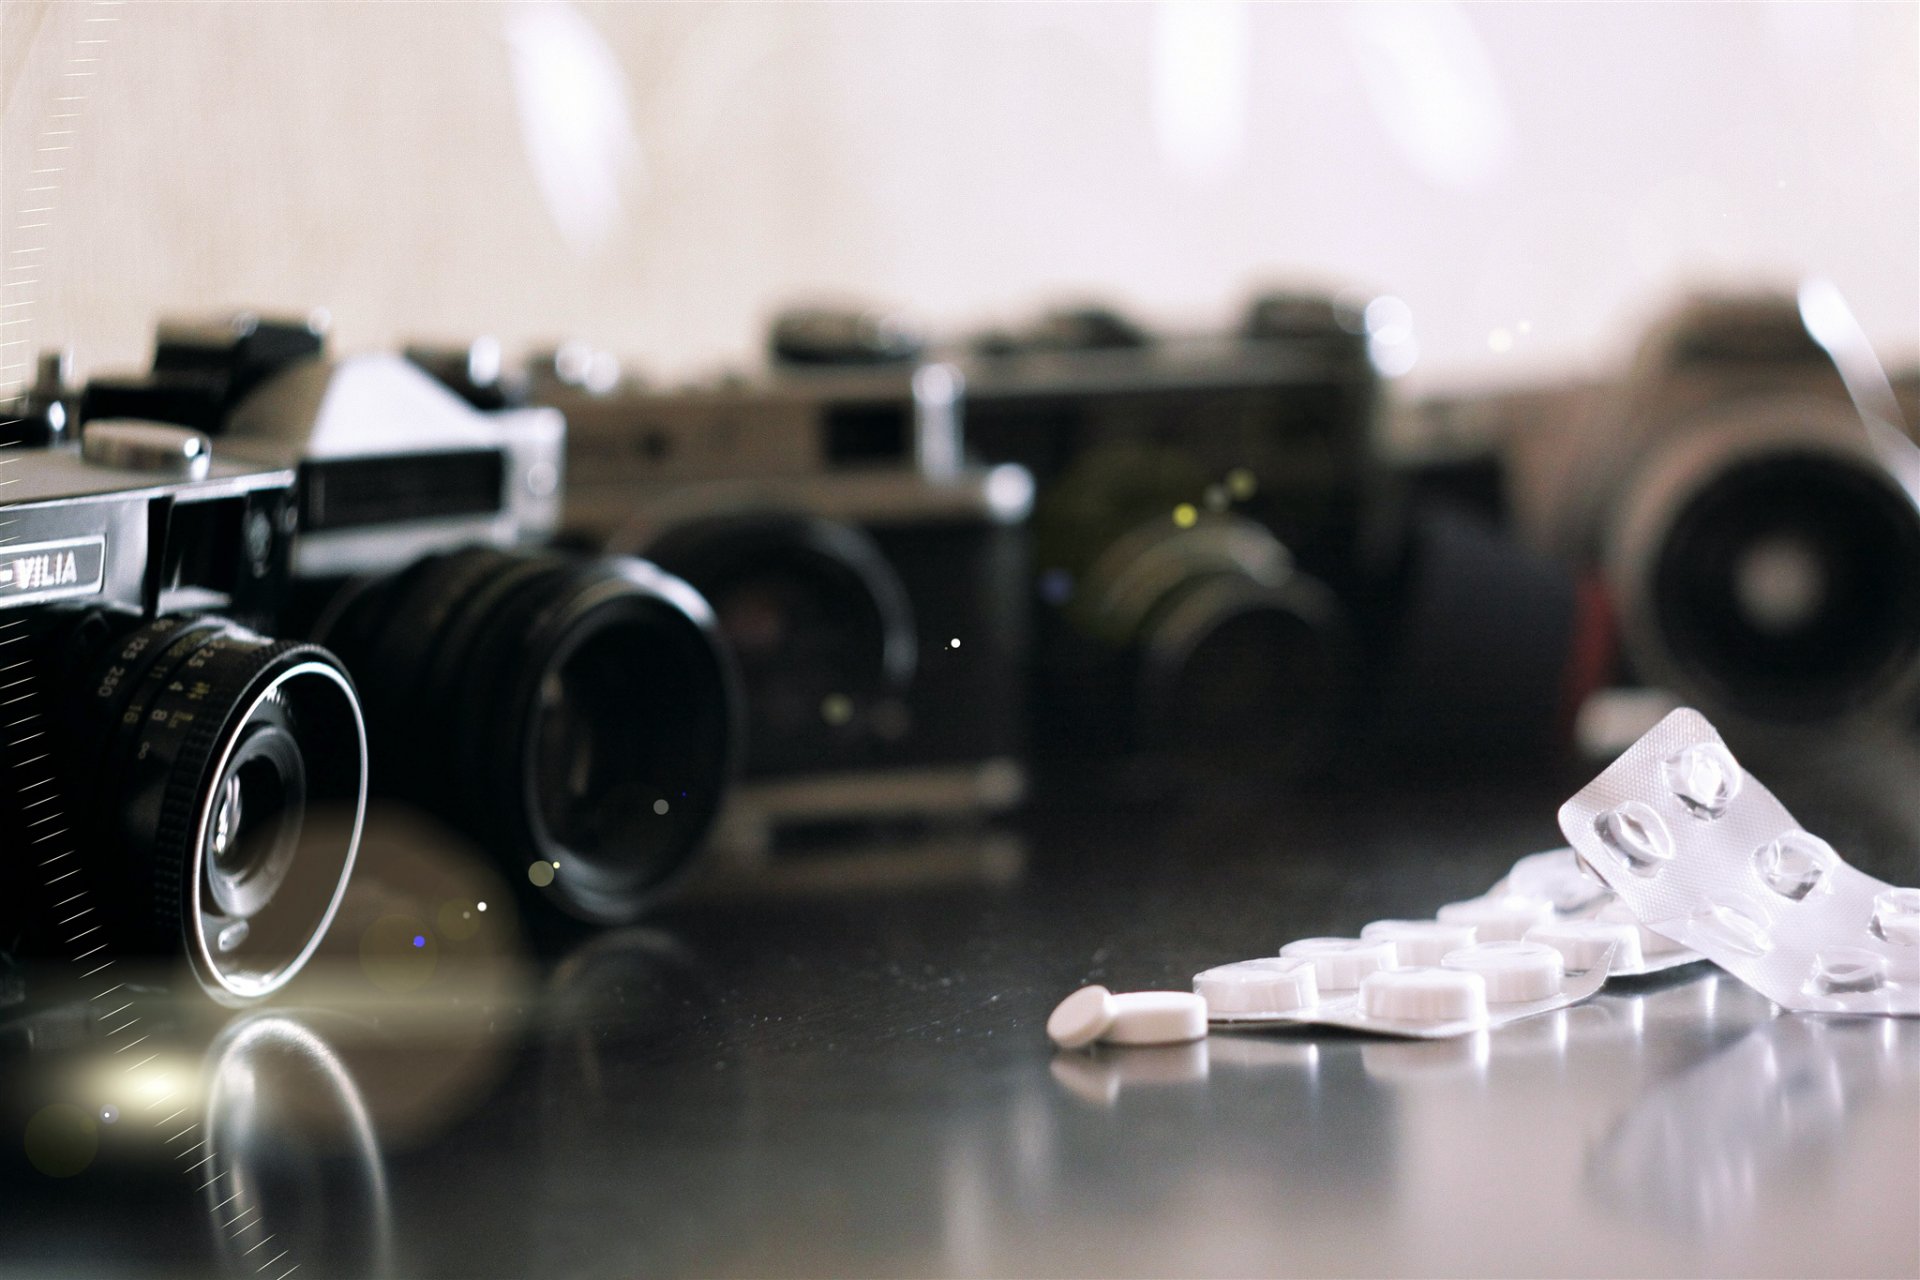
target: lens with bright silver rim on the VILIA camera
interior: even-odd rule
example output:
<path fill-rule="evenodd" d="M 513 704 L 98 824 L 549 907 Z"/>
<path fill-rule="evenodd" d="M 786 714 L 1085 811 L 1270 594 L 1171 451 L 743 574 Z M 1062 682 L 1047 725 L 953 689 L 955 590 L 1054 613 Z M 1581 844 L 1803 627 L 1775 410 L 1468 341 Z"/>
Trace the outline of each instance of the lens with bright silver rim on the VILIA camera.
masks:
<path fill-rule="evenodd" d="M 96 614 L 81 629 L 94 656 L 75 764 L 104 781 L 96 839 L 129 869 L 102 890 L 146 940 L 184 938 L 207 990 L 276 990 L 319 946 L 359 846 L 351 681 L 315 645 L 217 618 Z"/>

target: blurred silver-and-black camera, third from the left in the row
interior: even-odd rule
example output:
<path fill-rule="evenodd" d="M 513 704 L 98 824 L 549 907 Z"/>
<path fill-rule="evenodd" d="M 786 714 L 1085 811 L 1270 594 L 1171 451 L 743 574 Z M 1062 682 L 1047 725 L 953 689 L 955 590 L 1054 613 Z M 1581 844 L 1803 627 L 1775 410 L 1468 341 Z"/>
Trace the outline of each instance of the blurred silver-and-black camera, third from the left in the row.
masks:
<path fill-rule="evenodd" d="M 547 361 L 532 393 L 566 413 L 566 526 L 691 581 L 739 664 L 737 852 L 1021 798 L 1031 482 L 962 462 L 952 368 L 676 390 L 564 368 Z"/>

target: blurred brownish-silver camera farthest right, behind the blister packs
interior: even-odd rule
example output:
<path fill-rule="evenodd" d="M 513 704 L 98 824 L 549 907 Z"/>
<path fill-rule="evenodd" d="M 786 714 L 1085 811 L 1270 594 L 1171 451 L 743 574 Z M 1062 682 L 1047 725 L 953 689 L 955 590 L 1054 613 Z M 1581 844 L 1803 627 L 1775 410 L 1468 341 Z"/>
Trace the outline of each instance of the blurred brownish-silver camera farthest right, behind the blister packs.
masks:
<path fill-rule="evenodd" d="M 1622 378 L 1423 416 L 1603 585 L 1626 677 L 1749 741 L 1920 720 L 1920 449 L 1832 286 L 1699 296 Z"/>

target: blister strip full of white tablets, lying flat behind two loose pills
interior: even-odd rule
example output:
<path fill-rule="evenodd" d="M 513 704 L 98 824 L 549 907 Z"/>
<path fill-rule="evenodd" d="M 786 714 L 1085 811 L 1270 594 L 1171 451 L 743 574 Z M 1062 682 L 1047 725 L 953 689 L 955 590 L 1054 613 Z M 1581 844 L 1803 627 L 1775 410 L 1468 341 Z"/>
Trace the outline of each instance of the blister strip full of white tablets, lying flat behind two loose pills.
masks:
<path fill-rule="evenodd" d="M 1607 981 L 1607 950 L 1571 969 L 1540 942 L 1469 942 L 1438 963 L 1400 963 L 1398 946 L 1380 936 L 1304 938 L 1275 958 L 1198 973 L 1194 992 L 1215 1029 L 1319 1025 L 1446 1040 L 1576 1004 Z"/>

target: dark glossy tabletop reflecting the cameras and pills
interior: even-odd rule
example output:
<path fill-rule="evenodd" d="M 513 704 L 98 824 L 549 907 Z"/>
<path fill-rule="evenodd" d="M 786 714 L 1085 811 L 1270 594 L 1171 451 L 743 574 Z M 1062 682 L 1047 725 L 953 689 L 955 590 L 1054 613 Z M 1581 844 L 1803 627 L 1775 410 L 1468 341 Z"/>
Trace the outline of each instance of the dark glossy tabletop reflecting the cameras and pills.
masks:
<path fill-rule="evenodd" d="M 1910 1019 L 1693 965 L 1453 1042 L 1044 1040 L 1478 892 L 1557 796 L 1087 806 L 541 946 L 401 821 L 284 1007 L 10 1023 L 0 1274 L 1920 1272 Z"/>

